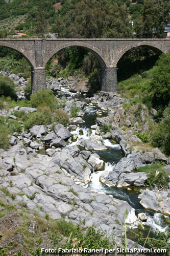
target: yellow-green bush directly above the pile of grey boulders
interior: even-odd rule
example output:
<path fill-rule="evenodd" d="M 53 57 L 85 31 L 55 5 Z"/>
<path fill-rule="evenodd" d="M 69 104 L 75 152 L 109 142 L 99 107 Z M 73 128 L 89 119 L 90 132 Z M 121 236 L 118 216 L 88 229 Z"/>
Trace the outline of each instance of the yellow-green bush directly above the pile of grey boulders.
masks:
<path fill-rule="evenodd" d="M 28 119 L 24 122 L 25 130 L 29 130 L 34 125 L 46 125 L 52 122 L 52 112 L 49 107 L 39 108 L 37 112 L 30 113 Z"/>

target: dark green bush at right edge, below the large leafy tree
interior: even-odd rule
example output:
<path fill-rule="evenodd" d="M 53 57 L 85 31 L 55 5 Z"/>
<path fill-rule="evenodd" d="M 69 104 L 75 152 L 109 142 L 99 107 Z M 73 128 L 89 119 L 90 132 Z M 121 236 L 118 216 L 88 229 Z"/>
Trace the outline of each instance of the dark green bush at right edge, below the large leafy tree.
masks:
<path fill-rule="evenodd" d="M 152 134 L 152 144 L 170 155 L 170 105 L 164 110 L 163 118 Z"/>

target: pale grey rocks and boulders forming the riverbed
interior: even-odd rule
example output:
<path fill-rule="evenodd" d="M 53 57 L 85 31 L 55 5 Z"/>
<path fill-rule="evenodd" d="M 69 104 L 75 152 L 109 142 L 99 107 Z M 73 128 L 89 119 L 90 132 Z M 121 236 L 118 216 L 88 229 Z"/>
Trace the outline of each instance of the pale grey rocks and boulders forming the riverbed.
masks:
<path fill-rule="evenodd" d="M 20 84 L 17 95 L 18 99 L 23 99 L 23 88 L 27 82 L 15 75 L 10 77 Z M 74 223 L 83 221 L 87 226 L 106 230 L 107 234 L 114 229 L 115 236 L 119 237 L 124 234 L 125 215 L 126 223 L 131 228 L 136 228 L 144 219 L 141 216 L 137 218 L 135 209 L 126 201 L 88 188 L 91 174 L 104 170 L 100 181 L 117 188 L 144 187 L 148 175 L 136 172 L 136 169 L 159 160 L 166 163 L 164 168 L 169 172 L 168 159 L 158 148 L 143 150 L 144 144 L 134 134 L 134 131 L 141 131 L 141 127 L 138 127 L 139 123 L 132 126 L 135 110 L 134 116 L 128 115 L 123 108 L 126 100 L 119 94 L 100 92 L 80 100 L 75 93 L 75 84 L 76 81 L 63 78 L 47 81 L 47 87 L 54 91 L 56 98 L 66 99 L 64 110 L 68 114 L 71 106 L 76 104 L 78 117 L 70 118 L 68 127 L 55 125 L 54 131 L 52 125 L 35 125 L 29 132 L 14 133 L 10 138 L 10 149 L 1 150 L 0 188 L 6 188 L 11 197 L 13 195 L 12 204 L 25 205 L 40 216 L 47 214 L 53 219 L 64 218 Z M 98 110 L 95 110 L 96 105 L 99 105 Z M 83 116 L 90 106 L 94 106 L 98 117 L 96 123 L 87 128 Z M 13 110 L 1 110 L 1 115 L 15 119 L 11 115 Z M 15 111 L 29 113 L 37 110 L 16 106 Z M 105 111 L 108 111 L 107 116 L 100 117 Z M 155 110 L 152 110 L 151 114 L 154 113 Z M 144 116 L 148 114 L 148 109 L 143 105 L 140 118 L 144 130 L 148 127 L 148 120 Z M 123 123 L 129 127 L 127 131 L 122 129 Z M 101 126 L 106 124 L 110 125 L 110 132 L 104 133 Z M 108 145 L 122 148 L 125 154 L 109 170 L 105 169 L 106 163 L 99 155 L 100 151 L 108 150 Z M 42 150 L 43 154 L 40 154 Z M 113 162 L 111 157 L 110 162 Z M 1 194 L 5 196 L 3 192 Z M 140 204 L 144 208 L 167 215 L 170 215 L 169 198 L 170 183 L 166 190 L 155 186 L 154 190 L 143 189 L 139 194 Z M 130 240 L 128 242 L 132 244 Z"/>

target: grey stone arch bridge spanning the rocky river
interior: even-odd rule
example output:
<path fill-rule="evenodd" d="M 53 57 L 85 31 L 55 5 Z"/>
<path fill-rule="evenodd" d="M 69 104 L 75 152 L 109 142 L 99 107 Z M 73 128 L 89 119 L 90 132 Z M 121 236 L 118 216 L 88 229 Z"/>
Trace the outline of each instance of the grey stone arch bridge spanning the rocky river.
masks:
<path fill-rule="evenodd" d="M 117 62 L 130 49 L 148 46 L 156 53 L 170 51 L 170 38 L 0 38 L 0 46 L 21 53 L 32 68 L 32 92 L 46 88 L 45 65 L 58 51 L 80 46 L 90 51 L 101 65 L 101 90 L 117 91 Z"/>

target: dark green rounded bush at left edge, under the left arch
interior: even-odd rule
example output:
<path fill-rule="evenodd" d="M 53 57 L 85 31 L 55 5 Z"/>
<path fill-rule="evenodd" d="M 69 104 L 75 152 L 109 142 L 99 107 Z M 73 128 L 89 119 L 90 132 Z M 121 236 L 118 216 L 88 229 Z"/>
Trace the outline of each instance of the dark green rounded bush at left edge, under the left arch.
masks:
<path fill-rule="evenodd" d="M 0 96 L 10 96 L 12 99 L 16 99 L 14 88 L 15 84 L 9 77 L 0 75 Z"/>

